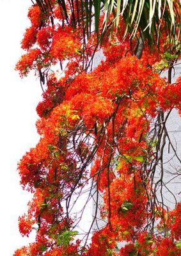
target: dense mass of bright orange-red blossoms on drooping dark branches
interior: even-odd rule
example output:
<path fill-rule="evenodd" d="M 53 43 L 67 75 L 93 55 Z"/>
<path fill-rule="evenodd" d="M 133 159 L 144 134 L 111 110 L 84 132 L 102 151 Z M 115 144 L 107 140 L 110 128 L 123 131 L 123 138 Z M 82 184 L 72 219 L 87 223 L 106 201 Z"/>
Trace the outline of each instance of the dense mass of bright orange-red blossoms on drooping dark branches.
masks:
<path fill-rule="evenodd" d="M 166 120 L 181 103 L 181 79 L 171 84 L 157 71 L 172 68 L 179 49 L 168 52 L 163 33 L 160 49 L 145 42 L 138 60 L 136 39 L 107 31 L 104 60 L 92 68 L 96 34 L 84 42 L 81 26 L 67 24 L 61 6 L 50 3 L 47 13 L 29 9 L 26 53 L 16 66 L 20 76 L 35 70 L 44 91 L 36 108 L 40 141 L 18 166 L 23 188 L 33 193 L 19 230 L 28 236 L 36 229 L 36 241 L 14 256 L 180 255 L 181 205 L 169 209 L 157 198 L 163 168 L 154 183 Z M 95 214 L 81 241 L 71 208 L 90 180 L 105 224 L 92 232 Z"/>

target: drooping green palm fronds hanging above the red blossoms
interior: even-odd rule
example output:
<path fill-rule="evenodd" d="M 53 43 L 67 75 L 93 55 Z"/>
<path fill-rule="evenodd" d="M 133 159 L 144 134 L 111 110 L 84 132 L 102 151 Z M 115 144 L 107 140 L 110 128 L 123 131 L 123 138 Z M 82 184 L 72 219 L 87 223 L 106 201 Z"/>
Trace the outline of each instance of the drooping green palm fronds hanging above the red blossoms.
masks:
<path fill-rule="evenodd" d="M 74 26 L 79 26 L 84 20 L 84 35 L 89 36 L 94 17 L 95 31 L 99 38 L 104 36 L 107 28 L 118 29 L 120 17 L 125 21 L 125 36 L 134 38 L 138 31 L 148 42 L 153 42 L 155 35 L 159 37 L 161 24 L 168 28 L 169 38 L 175 42 L 180 36 L 180 0 L 81 0 L 81 10 L 77 0 L 58 0 L 61 10 L 68 21 L 66 2 L 70 5 Z M 36 0 L 41 10 L 49 8 L 48 0 Z M 75 18 L 74 12 L 79 13 Z M 103 29 L 100 32 L 100 15 L 104 15 Z M 111 17 L 111 18 L 110 18 Z M 110 19 L 111 22 L 110 22 Z"/>

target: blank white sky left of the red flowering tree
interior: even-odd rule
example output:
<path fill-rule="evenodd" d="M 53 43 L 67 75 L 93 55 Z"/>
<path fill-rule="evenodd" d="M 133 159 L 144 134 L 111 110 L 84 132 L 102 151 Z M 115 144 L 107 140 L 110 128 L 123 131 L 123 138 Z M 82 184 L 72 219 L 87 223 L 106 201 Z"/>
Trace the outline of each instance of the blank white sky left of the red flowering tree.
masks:
<path fill-rule="evenodd" d="M 14 67 L 20 58 L 20 40 L 29 26 L 27 15 L 30 0 L 0 0 L 0 228 L 1 255 L 11 256 L 15 249 L 28 243 L 18 230 L 18 217 L 27 209 L 31 195 L 22 191 L 17 162 L 24 152 L 38 141 L 35 122 L 36 105 L 42 91 L 38 81 L 31 74 L 20 79 Z M 30 238 L 32 239 L 32 238 Z"/>

